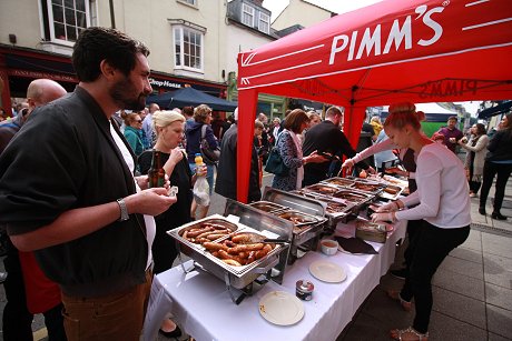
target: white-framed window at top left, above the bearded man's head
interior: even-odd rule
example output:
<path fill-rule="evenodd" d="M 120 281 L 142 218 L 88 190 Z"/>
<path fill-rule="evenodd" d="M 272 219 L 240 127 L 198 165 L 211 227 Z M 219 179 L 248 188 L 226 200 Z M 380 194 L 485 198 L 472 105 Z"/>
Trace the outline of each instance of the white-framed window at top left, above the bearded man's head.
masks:
<path fill-rule="evenodd" d="M 43 0 L 48 12 L 48 40 L 72 46 L 90 26 L 89 0 Z"/>

